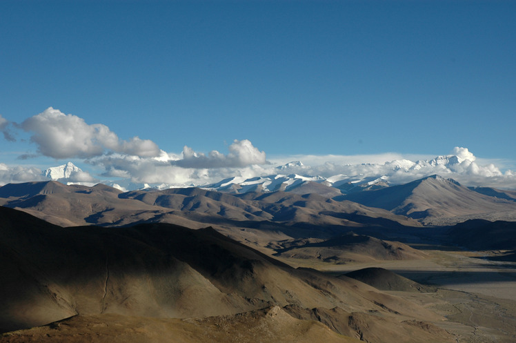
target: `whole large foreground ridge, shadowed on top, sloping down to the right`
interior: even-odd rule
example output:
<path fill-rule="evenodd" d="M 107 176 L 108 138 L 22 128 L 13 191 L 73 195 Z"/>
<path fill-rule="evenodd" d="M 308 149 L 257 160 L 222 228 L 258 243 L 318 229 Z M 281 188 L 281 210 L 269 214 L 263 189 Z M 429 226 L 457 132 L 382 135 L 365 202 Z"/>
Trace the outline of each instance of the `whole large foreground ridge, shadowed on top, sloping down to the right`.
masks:
<path fill-rule="evenodd" d="M 0 207 L 0 245 L 1 331 L 73 315 L 207 317 L 287 305 L 442 319 L 353 279 L 291 268 L 211 228 L 61 228 Z"/>

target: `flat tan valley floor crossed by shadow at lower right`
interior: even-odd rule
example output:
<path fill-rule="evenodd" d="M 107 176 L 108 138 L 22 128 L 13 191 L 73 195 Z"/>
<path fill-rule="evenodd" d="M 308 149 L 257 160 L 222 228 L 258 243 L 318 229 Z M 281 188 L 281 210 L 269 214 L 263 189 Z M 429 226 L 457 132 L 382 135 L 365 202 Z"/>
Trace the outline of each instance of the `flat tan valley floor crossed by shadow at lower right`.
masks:
<path fill-rule="evenodd" d="M 500 251 L 471 252 L 432 247 L 428 259 L 326 264 L 312 268 L 341 275 L 361 268 L 381 267 L 421 284 L 437 286 L 435 293 L 399 292 L 393 295 L 421 304 L 448 319 L 436 323 L 454 333 L 458 342 L 516 341 L 516 263 L 486 256 Z M 289 259 L 290 264 L 295 263 Z M 299 261 L 298 261 L 299 266 Z M 308 266 L 308 265 L 304 265 Z"/>

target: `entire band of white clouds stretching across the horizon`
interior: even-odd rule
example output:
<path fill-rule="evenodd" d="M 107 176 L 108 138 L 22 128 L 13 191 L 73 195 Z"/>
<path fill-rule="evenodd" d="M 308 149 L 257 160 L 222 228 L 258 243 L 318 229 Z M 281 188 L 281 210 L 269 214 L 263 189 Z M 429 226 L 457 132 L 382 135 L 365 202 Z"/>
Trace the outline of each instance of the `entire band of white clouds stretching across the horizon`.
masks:
<path fill-rule="evenodd" d="M 13 139 L 8 128 L 21 128 L 30 134 L 38 154 L 20 155 L 32 159 L 35 155 L 52 159 L 69 159 L 77 165 L 90 166 L 92 171 L 70 175 L 69 182 L 101 182 L 123 184 L 128 188 L 143 186 L 203 186 L 229 177 L 250 178 L 275 174 L 332 177 L 364 180 L 384 177 L 391 184 L 438 174 L 457 180 L 466 186 L 493 186 L 516 189 L 516 173 L 505 173 L 493 163 L 482 164 L 464 147 L 455 147 L 449 155 L 415 159 L 397 153 L 381 155 L 297 155 L 281 157 L 271 163 L 263 150 L 248 139 L 232 141 L 227 153 L 212 150 L 202 153 L 183 146 L 181 153 L 159 149 L 150 139 L 135 136 L 128 140 L 103 124 L 87 124 L 76 115 L 65 115 L 47 108 L 21 124 L 10 123 L 0 116 L 0 130 L 7 140 Z M 279 164 L 293 160 L 302 164 Z M 308 163 L 307 163 L 308 161 Z M 364 163 L 367 162 L 367 163 Z M 52 162 L 48 162 L 49 164 Z M 54 166 L 52 164 L 48 166 Z M 44 179 L 41 170 L 33 167 L 0 164 L 0 184 Z"/>

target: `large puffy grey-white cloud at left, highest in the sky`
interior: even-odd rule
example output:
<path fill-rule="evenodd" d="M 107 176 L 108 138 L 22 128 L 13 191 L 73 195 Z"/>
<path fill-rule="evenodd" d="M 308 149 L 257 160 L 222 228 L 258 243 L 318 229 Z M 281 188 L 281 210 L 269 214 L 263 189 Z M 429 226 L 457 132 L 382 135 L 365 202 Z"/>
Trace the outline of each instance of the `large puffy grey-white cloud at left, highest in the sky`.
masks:
<path fill-rule="evenodd" d="M 148 140 L 133 137 L 123 141 L 103 124 L 86 124 L 76 115 L 65 115 L 50 107 L 23 121 L 21 128 L 32 133 L 31 141 L 42 155 L 55 159 L 89 158 L 108 151 L 142 157 L 157 156 L 158 146 Z"/>

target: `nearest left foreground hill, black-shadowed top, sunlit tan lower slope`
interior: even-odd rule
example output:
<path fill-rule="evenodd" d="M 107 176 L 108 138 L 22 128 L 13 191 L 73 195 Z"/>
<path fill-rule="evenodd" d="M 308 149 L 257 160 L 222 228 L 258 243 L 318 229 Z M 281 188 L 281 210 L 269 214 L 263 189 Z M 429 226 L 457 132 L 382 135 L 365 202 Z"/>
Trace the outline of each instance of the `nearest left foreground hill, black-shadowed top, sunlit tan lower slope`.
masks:
<path fill-rule="evenodd" d="M 77 313 L 181 317 L 249 307 L 185 262 L 117 229 L 65 229 L 0 210 L 3 331 Z M 205 306 L 192 306 L 190 298 Z"/>

